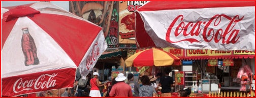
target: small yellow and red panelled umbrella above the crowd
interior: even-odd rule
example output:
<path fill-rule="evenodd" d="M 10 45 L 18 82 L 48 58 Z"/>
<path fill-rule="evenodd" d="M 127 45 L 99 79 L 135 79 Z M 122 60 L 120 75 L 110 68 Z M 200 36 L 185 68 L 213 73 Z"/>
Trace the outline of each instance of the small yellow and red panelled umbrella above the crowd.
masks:
<path fill-rule="evenodd" d="M 172 53 L 157 48 L 150 48 L 140 51 L 125 60 L 126 67 L 144 67 L 144 66 L 179 66 L 180 58 Z"/>

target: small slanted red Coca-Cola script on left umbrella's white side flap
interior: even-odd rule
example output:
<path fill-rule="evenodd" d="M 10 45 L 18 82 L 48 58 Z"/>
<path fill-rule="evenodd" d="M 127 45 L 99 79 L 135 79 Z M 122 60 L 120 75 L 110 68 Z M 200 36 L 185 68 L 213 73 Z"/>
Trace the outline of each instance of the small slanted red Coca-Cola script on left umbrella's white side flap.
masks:
<path fill-rule="evenodd" d="M 89 70 L 90 67 L 92 66 L 92 63 L 96 61 L 97 56 L 100 54 L 99 53 L 99 47 L 98 47 L 98 42 L 94 44 L 91 53 L 88 55 L 86 58 L 86 68 Z"/>

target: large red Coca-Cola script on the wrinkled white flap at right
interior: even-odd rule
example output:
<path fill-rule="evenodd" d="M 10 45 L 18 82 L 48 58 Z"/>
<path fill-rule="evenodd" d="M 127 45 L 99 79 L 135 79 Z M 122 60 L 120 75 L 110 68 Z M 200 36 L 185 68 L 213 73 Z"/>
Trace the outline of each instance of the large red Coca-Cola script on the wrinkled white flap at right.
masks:
<path fill-rule="evenodd" d="M 188 41 L 190 43 L 193 42 L 199 42 L 201 43 L 199 39 L 196 39 L 197 36 L 201 35 L 203 36 L 203 39 L 205 42 L 211 42 L 212 40 L 214 41 L 214 43 L 218 43 L 219 41 L 222 44 L 234 44 L 239 40 L 239 29 L 235 29 L 235 25 L 241 21 L 244 18 L 241 17 L 239 18 L 238 15 L 232 17 L 229 17 L 225 14 L 221 14 L 221 15 L 214 15 L 209 21 L 198 21 L 196 23 L 194 22 L 184 22 L 184 18 L 183 15 L 179 15 L 177 16 L 172 23 L 170 24 L 167 32 L 166 32 L 166 41 L 169 43 L 178 43 L 178 42 L 182 42 L 182 41 Z M 220 24 L 223 23 L 222 20 L 226 19 L 229 21 L 228 25 L 222 28 L 214 28 L 216 26 L 221 26 Z M 180 22 L 178 22 L 180 20 Z M 187 23 L 187 24 L 185 24 Z M 174 28 L 175 25 L 176 28 Z M 204 28 L 202 25 L 205 25 Z M 209 27 L 211 26 L 211 27 Z M 172 30 L 174 30 L 174 34 L 172 32 Z M 190 30 L 190 31 L 188 31 Z M 172 35 L 171 35 L 172 34 Z M 171 37 L 173 39 L 173 37 L 178 37 L 179 35 L 183 35 L 184 37 L 186 37 L 185 39 L 181 39 L 179 41 L 173 41 L 171 40 Z"/>

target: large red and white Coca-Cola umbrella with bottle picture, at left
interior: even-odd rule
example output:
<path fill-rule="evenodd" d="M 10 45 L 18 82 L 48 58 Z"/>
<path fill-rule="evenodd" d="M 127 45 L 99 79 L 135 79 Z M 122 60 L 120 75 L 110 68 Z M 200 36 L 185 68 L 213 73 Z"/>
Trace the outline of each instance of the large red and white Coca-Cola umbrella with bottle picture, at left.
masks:
<path fill-rule="evenodd" d="M 3 96 L 71 88 L 107 48 L 102 27 L 51 3 L 1 12 Z"/>

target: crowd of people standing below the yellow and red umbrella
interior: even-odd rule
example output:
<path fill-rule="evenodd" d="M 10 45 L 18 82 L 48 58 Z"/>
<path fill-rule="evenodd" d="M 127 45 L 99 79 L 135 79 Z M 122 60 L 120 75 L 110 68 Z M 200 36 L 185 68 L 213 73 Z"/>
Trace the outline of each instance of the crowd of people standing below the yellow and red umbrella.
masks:
<path fill-rule="evenodd" d="M 138 81 L 134 81 L 134 75 L 133 74 L 127 74 L 127 77 L 124 76 L 123 73 L 119 73 L 117 77 L 114 77 L 112 79 L 111 84 L 106 85 L 106 83 L 100 84 L 98 76 L 99 74 L 97 72 L 93 73 L 93 78 L 88 78 L 89 82 L 89 91 L 86 91 L 86 93 L 89 93 L 87 95 L 78 94 L 77 96 L 91 96 L 91 97 L 101 97 L 101 92 L 99 87 L 101 86 L 107 86 L 107 91 L 104 94 L 105 97 L 112 96 L 122 96 L 122 97 L 132 97 L 132 96 L 158 96 L 157 91 L 159 86 L 162 87 L 161 96 L 162 97 L 171 97 L 171 87 L 174 87 L 173 84 L 173 78 L 169 76 L 170 69 L 166 69 L 165 74 L 158 73 L 155 77 L 150 75 L 149 72 L 144 72 L 140 75 Z M 156 83 L 156 80 L 159 81 L 159 83 Z M 132 91 L 130 83 L 134 84 L 134 89 Z M 80 89 L 80 88 L 79 88 Z M 84 88 L 83 88 L 84 89 Z M 187 92 L 188 90 L 180 90 L 178 93 L 180 96 L 187 96 L 190 94 L 190 92 Z"/>

